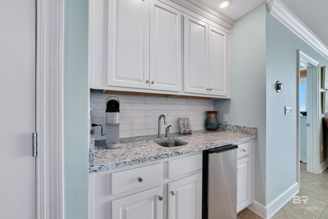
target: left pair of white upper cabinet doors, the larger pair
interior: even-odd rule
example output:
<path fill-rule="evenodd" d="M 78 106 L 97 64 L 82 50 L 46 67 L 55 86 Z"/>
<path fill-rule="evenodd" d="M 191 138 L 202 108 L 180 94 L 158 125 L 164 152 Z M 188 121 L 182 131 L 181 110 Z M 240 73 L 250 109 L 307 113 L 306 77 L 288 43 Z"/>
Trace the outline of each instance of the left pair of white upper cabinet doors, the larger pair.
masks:
<path fill-rule="evenodd" d="M 109 1 L 107 85 L 181 91 L 181 12 L 158 1 Z"/>

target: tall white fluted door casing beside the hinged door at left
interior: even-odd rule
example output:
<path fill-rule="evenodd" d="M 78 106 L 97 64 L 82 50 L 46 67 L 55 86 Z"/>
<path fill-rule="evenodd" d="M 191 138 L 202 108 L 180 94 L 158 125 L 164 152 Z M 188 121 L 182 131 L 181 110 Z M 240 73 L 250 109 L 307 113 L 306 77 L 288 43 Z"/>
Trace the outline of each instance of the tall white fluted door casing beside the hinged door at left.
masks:
<path fill-rule="evenodd" d="M 64 0 L 36 0 L 36 218 L 64 218 Z"/>

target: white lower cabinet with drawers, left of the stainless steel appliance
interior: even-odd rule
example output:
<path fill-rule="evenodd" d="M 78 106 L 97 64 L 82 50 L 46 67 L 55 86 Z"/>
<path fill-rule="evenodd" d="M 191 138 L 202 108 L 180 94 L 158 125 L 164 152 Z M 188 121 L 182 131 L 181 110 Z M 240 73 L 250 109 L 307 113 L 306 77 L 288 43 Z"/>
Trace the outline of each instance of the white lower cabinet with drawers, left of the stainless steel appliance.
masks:
<path fill-rule="evenodd" d="M 90 219 L 201 219 L 202 153 L 89 174 Z"/>

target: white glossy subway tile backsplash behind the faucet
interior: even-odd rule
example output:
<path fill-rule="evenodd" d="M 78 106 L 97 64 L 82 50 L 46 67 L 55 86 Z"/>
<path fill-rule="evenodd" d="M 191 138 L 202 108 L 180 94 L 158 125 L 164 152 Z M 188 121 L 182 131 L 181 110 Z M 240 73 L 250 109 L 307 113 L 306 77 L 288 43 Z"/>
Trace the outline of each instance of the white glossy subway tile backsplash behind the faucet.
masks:
<path fill-rule="evenodd" d="M 106 98 L 110 94 L 92 90 L 90 98 L 91 121 L 102 125 L 106 133 Z M 185 99 L 173 97 L 150 97 L 133 95 L 114 95 L 120 102 L 119 113 L 119 137 L 135 137 L 157 134 L 158 116 L 164 114 L 167 117 L 167 125 L 161 120 L 161 133 L 165 134 L 165 128 L 169 125 L 170 132 L 179 132 L 178 118 L 189 117 L 191 129 L 204 130 L 206 111 L 213 110 L 213 100 Z M 92 127 L 94 138 L 105 140 L 106 135 L 101 136 L 100 126 Z"/>

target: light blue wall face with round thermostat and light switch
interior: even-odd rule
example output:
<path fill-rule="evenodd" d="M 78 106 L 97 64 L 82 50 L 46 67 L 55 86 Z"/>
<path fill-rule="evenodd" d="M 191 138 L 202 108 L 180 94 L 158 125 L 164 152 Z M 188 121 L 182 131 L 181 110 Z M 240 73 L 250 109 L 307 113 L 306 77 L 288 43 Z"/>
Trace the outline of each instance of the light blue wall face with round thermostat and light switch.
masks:
<path fill-rule="evenodd" d="M 320 66 L 328 65 L 328 60 L 315 49 L 302 41 L 292 31 L 282 25 L 267 12 L 267 194 L 269 204 L 283 191 L 296 183 L 296 121 L 297 109 L 297 49 L 316 59 Z M 315 78 L 321 85 L 320 75 Z M 283 83 L 283 90 L 277 93 L 276 81 Z M 317 91 L 314 91 L 317 92 Z M 320 94 L 321 106 L 321 94 Z M 293 107 L 291 116 L 284 115 L 284 107 Z M 321 107 L 319 107 L 320 117 Z M 319 120 L 321 123 L 321 118 Z M 322 125 L 320 125 L 322 127 Z M 320 130 L 322 142 L 322 130 Z M 319 147 L 319 145 L 318 145 Z M 320 153 L 320 163 L 327 156 Z"/>

